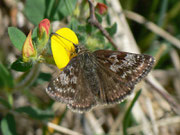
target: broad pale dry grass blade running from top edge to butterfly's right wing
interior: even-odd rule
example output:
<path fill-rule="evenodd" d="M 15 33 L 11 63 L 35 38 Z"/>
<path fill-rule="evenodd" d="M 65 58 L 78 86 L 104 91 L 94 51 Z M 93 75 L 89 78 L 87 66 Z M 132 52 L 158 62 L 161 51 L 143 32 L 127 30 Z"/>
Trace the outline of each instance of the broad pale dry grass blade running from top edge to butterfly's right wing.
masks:
<path fill-rule="evenodd" d="M 117 33 L 114 36 L 115 42 L 118 43 L 118 50 L 140 53 L 126 17 L 122 14 L 123 9 L 120 2 L 118 0 L 112 0 L 109 4 L 112 6 L 112 8 L 109 8 L 111 20 L 118 24 Z"/>

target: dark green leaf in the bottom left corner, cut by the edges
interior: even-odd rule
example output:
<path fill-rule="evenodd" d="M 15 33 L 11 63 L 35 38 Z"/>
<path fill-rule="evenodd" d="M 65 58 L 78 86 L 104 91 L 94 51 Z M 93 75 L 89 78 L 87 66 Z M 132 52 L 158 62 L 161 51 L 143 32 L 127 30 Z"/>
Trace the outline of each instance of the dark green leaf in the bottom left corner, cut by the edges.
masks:
<path fill-rule="evenodd" d="M 12 114 L 7 114 L 1 121 L 1 131 L 3 135 L 17 135 L 16 123 Z"/>

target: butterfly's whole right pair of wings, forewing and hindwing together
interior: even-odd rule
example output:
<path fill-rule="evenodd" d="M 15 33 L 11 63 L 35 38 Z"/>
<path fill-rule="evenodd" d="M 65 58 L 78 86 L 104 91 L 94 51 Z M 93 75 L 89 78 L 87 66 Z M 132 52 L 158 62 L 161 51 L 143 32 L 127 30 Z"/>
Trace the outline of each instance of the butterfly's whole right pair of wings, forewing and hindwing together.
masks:
<path fill-rule="evenodd" d="M 104 104 L 121 102 L 154 64 L 153 57 L 143 54 L 98 50 L 94 55 L 101 80 L 99 98 Z"/>

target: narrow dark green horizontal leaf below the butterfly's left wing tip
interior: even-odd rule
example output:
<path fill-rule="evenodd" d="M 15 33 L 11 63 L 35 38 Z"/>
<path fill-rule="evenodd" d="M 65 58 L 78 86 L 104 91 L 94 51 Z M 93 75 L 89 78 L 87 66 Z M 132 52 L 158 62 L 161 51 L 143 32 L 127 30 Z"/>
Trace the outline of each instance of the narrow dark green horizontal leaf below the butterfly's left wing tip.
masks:
<path fill-rule="evenodd" d="M 50 110 L 42 111 L 40 109 L 33 108 L 31 106 L 20 107 L 20 108 L 15 109 L 15 111 L 19 113 L 26 113 L 30 117 L 35 118 L 35 119 L 40 119 L 40 120 L 52 118 L 54 116 L 54 113 Z"/>

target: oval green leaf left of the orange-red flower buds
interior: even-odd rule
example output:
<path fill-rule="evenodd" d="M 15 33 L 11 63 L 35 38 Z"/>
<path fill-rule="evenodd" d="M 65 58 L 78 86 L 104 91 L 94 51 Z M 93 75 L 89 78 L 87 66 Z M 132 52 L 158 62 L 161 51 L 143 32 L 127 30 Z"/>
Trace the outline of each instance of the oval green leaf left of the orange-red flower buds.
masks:
<path fill-rule="evenodd" d="M 21 51 L 26 40 L 26 35 L 15 27 L 8 27 L 8 34 L 13 45 Z"/>

